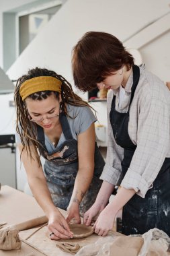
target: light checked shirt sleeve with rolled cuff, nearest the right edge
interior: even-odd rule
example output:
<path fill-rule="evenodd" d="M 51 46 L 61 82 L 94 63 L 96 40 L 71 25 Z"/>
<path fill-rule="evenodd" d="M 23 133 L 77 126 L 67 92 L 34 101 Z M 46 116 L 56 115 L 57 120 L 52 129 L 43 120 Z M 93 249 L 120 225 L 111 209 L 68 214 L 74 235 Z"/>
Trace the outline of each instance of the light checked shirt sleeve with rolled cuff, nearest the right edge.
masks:
<path fill-rule="evenodd" d="M 138 97 L 133 102 L 137 105 L 135 100 Z M 135 117 L 133 111 L 135 112 L 135 108 L 132 106 L 131 115 Z M 134 129 L 132 117 L 129 131 L 130 137 L 135 137 L 133 131 L 137 130 L 137 147 L 121 186 L 134 189 L 144 198 L 148 189 L 153 187 L 169 149 L 169 103 L 161 86 L 155 85 L 154 90 L 146 90 L 146 94 L 140 95 L 138 123 Z"/>

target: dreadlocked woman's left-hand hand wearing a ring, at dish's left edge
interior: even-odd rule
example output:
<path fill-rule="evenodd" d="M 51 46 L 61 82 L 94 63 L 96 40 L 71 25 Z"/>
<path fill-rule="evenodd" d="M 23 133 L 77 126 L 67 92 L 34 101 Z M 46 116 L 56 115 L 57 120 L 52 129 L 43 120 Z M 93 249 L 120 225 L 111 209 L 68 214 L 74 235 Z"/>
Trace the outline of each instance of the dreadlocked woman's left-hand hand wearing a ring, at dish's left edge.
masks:
<path fill-rule="evenodd" d="M 65 217 L 60 214 L 58 209 L 52 211 L 48 216 L 48 232 L 52 240 L 73 237 L 73 232 L 71 232 Z"/>

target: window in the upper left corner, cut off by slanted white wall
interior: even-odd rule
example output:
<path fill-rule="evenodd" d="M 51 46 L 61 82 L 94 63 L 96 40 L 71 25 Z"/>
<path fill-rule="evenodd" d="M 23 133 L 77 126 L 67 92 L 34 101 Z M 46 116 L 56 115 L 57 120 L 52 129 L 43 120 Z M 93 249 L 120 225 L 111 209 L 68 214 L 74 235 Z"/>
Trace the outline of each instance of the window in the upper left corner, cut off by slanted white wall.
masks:
<path fill-rule="evenodd" d="M 35 0 L 3 12 L 3 70 L 7 71 L 67 0 Z"/>

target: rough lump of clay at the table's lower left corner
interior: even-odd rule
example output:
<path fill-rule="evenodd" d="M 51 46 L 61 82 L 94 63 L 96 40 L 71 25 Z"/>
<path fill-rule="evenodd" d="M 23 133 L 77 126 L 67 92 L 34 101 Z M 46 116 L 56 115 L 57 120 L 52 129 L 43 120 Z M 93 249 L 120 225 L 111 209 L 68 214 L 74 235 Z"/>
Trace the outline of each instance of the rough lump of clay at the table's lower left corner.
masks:
<path fill-rule="evenodd" d="M 0 230 L 0 249 L 1 250 L 13 250 L 20 249 L 22 241 L 19 239 L 18 230 L 5 229 Z"/>

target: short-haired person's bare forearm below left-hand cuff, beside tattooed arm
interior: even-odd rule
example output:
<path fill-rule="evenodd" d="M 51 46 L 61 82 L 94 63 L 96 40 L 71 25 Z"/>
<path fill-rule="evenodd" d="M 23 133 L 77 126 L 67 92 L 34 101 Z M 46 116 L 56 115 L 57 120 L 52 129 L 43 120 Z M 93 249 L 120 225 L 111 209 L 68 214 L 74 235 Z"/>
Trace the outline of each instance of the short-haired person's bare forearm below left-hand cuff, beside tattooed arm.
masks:
<path fill-rule="evenodd" d="M 107 181 L 103 181 L 99 193 L 96 197 L 95 203 L 103 205 L 103 207 L 105 207 L 110 199 L 110 195 L 112 195 L 112 192 L 114 191 L 114 187 L 114 185 L 108 183 Z"/>

